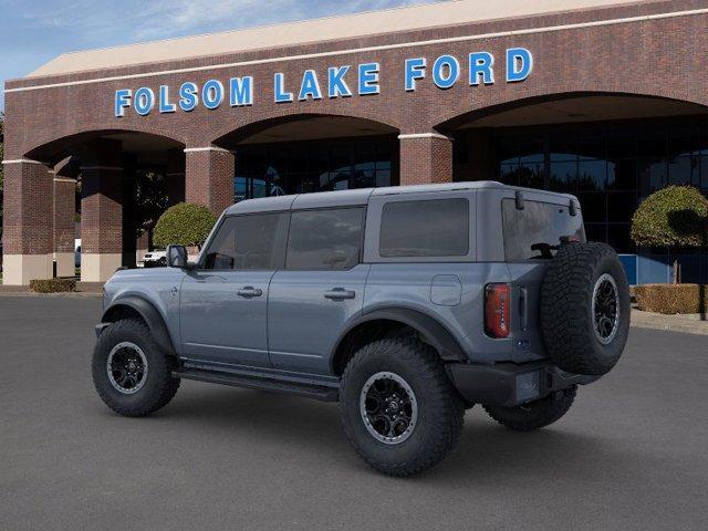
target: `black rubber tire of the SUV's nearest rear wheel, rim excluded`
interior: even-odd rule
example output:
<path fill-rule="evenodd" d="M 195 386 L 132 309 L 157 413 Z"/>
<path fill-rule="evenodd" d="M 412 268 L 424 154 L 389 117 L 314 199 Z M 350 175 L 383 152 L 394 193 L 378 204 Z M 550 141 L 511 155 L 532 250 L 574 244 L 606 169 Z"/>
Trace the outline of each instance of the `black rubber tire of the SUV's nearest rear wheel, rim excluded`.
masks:
<path fill-rule="evenodd" d="M 374 438 L 361 414 L 362 389 L 379 372 L 400 376 L 417 400 L 417 423 L 408 438 L 395 445 Z M 412 476 L 437 465 L 462 430 L 464 400 L 435 350 L 414 337 L 386 337 L 360 348 L 344 371 L 340 399 L 350 442 L 364 461 L 388 476 Z"/>

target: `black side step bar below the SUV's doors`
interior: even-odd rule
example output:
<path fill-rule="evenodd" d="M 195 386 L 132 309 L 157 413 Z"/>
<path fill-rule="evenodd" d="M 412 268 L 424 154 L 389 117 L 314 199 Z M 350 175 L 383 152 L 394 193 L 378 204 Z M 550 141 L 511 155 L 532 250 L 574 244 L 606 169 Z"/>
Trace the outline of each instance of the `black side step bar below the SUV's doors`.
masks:
<path fill-rule="evenodd" d="M 308 398 L 314 398 L 323 402 L 337 402 L 340 399 L 340 393 L 335 388 L 321 385 L 284 382 L 282 379 L 261 378 L 256 376 L 249 377 L 214 371 L 201 371 L 198 368 L 173 371 L 173 376 L 175 378 L 194 379 L 197 382 L 207 382 L 209 384 L 230 385 L 232 387 L 247 387 L 249 389 L 305 396 Z"/>

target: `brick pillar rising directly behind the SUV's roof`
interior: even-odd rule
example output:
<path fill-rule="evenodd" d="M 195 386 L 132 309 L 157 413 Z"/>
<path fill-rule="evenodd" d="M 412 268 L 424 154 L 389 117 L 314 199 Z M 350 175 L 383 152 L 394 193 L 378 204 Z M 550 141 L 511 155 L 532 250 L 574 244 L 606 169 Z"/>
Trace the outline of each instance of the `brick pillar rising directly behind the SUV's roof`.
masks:
<path fill-rule="evenodd" d="M 400 186 L 452 181 L 452 140 L 438 133 L 398 136 Z"/>

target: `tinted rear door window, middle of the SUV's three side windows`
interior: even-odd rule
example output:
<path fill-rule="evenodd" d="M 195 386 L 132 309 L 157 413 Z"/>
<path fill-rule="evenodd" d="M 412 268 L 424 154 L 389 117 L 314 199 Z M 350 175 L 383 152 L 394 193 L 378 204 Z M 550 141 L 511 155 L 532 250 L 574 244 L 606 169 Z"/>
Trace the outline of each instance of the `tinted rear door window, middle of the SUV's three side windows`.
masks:
<path fill-rule="evenodd" d="M 360 261 L 363 208 L 292 212 L 287 269 L 344 270 Z"/>

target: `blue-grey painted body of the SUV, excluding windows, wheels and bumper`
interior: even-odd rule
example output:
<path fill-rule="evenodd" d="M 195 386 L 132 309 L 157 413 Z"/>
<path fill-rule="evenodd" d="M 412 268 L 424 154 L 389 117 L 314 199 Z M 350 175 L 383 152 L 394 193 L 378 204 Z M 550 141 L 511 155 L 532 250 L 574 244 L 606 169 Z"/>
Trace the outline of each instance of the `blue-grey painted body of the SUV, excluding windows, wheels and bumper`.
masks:
<path fill-rule="evenodd" d="M 363 257 L 347 271 L 119 271 L 106 284 L 105 306 L 122 296 L 140 296 L 165 321 L 176 354 L 194 366 L 256 371 L 274 377 L 336 381 L 332 357 L 343 334 L 368 315 L 394 319 L 413 312 L 446 334 L 467 362 L 523 363 L 546 357 L 540 335 L 540 284 L 548 261 L 507 263 L 501 200 L 521 192 L 525 200 L 568 206 L 572 196 L 508 187 L 498 183 L 392 187 L 309 194 L 241 201 L 223 216 L 348 206 L 366 207 Z M 386 202 L 466 198 L 469 252 L 448 258 L 378 256 Z M 222 216 L 222 217 L 223 217 Z M 210 239 L 214 238 L 214 231 Z M 209 244 L 207 241 L 205 248 Z M 485 287 L 512 285 L 511 334 L 494 340 L 483 330 Z M 260 290 L 243 298 L 242 288 Z M 343 299 L 325 298 L 340 289 Z M 439 326 L 438 326 L 439 325 Z M 431 330 L 431 329 L 428 329 Z M 458 348 L 459 347 L 459 348 Z M 249 368 L 250 367 L 250 368 Z"/>

